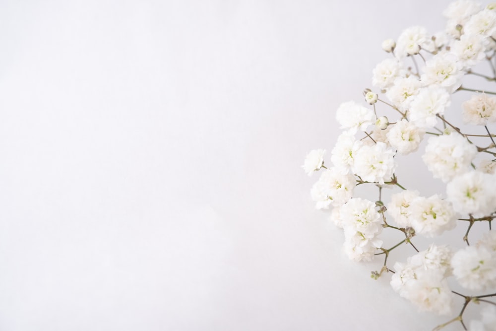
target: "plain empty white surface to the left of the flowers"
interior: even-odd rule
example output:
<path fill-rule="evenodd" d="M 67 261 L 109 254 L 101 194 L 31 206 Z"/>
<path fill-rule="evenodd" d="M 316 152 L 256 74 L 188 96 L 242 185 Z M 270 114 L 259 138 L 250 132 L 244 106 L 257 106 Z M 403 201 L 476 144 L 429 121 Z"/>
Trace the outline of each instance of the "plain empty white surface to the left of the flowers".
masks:
<path fill-rule="evenodd" d="M 300 165 L 447 3 L 1 1 L 0 330 L 444 321 L 343 256 Z"/>

